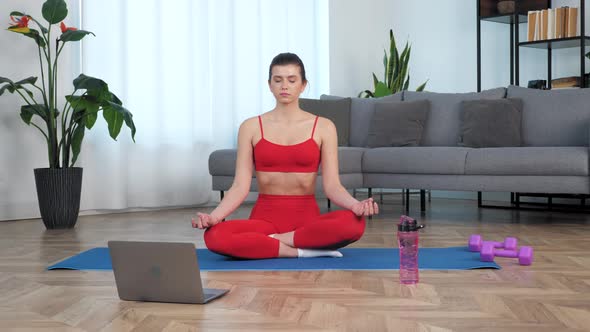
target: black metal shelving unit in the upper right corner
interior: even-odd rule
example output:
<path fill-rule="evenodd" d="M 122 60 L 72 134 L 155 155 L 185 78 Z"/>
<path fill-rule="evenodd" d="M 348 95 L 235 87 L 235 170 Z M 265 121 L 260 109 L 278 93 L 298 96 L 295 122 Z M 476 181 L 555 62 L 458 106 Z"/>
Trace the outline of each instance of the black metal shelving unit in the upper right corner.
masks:
<path fill-rule="evenodd" d="M 510 25 L 510 84 L 520 85 L 520 47 L 530 47 L 547 50 L 547 84 L 551 89 L 551 60 L 552 50 L 579 47 L 580 49 L 580 82 L 583 86 L 586 46 L 590 46 L 590 37 L 585 35 L 585 0 L 580 2 L 580 36 L 558 39 L 536 40 L 521 42 L 519 39 L 519 25 L 528 22 L 527 13 L 531 10 L 551 8 L 551 0 L 517 0 L 512 14 L 500 14 L 497 11 L 499 0 L 476 0 L 477 2 L 477 91 L 481 91 L 481 22 L 494 22 Z"/>

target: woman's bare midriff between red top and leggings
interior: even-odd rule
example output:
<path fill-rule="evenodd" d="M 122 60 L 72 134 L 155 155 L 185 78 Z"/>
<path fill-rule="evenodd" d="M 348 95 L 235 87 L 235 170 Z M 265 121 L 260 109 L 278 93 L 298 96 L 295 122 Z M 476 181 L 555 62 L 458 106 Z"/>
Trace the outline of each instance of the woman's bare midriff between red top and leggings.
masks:
<path fill-rule="evenodd" d="M 317 173 L 256 172 L 258 192 L 267 195 L 313 195 Z"/>

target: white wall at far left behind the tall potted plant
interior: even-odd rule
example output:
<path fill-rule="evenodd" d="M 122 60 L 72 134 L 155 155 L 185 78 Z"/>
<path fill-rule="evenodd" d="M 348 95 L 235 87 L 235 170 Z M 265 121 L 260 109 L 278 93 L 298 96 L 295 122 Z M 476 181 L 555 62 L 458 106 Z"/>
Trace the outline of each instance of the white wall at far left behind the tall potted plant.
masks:
<path fill-rule="evenodd" d="M 41 15 L 41 1 L 2 0 L 0 19 L 3 26 L 9 23 L 9 14 L 20 11 L 32 15 L 46 24 Z M 77 20 L 77 1 L 68 1 L 70 14 L 67 22 Z M 31 27 L 36 28 L 34 24 Z M 55 26 L 59 29 L 57 26 Z M 58 30 L 59 31 L 59 30 Z M 0 29 L 0 76 L 20 80 L 38 76 L 40 69 L 37 46 L 33 39 Z M 60 56 L 60 96 L 69 94 L 76 71 L 75 47 L 66 46 Z M 41 133 L 28 127 L 20 118 L 20 107 L 24 102 L 18 95 L 5 93 L 0 96 L 0 220 L 39 216 L 33 169 L 48 167 L 47 146 Z M 28 167 L 23 167 L 28 165 Z"/>

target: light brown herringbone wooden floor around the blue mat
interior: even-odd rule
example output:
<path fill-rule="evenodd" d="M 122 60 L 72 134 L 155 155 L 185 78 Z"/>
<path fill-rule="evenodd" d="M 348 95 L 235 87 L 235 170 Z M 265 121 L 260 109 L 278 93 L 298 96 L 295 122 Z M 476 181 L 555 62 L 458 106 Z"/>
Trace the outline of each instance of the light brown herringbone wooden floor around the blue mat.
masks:
<path fill-rule="evenodd" d="M 394 246 L 398 198 L 354 246 Z M 411 212 L 427 225 L 421 246 L 517 236 L 534 247 L 533 265 L 498 259 L 501 270 L 421 271 L 417 286 L 401 286 L 397 271 L 203 272 L 206 286 L 230 293 L 204 306 L 136 303 L 119 300 L 112 272 L 45 268 L 113 239 L 204 247 L 190 227 L 194 210 L 85 216 L 67 231 L 0 222 L 0 331 L 590 331 L 590 214 L 450 199 L 427 208 Z"/>

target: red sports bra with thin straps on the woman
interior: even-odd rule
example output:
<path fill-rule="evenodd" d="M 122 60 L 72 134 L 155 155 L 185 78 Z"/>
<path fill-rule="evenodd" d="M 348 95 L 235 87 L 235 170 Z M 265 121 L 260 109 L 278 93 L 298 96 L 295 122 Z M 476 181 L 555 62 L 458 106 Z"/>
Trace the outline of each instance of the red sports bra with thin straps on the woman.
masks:
<path fill-rule="evenodd" d="M 320 148 L 313 139 L 318 117 L 315 118 L 311 137 L 301 143 L 281 145 L 264 138 L 262 118 L 258 116 L 262 138 L 254 146 L 254 168 L 263 172 L 313 173 L 320 165 Z"/>

